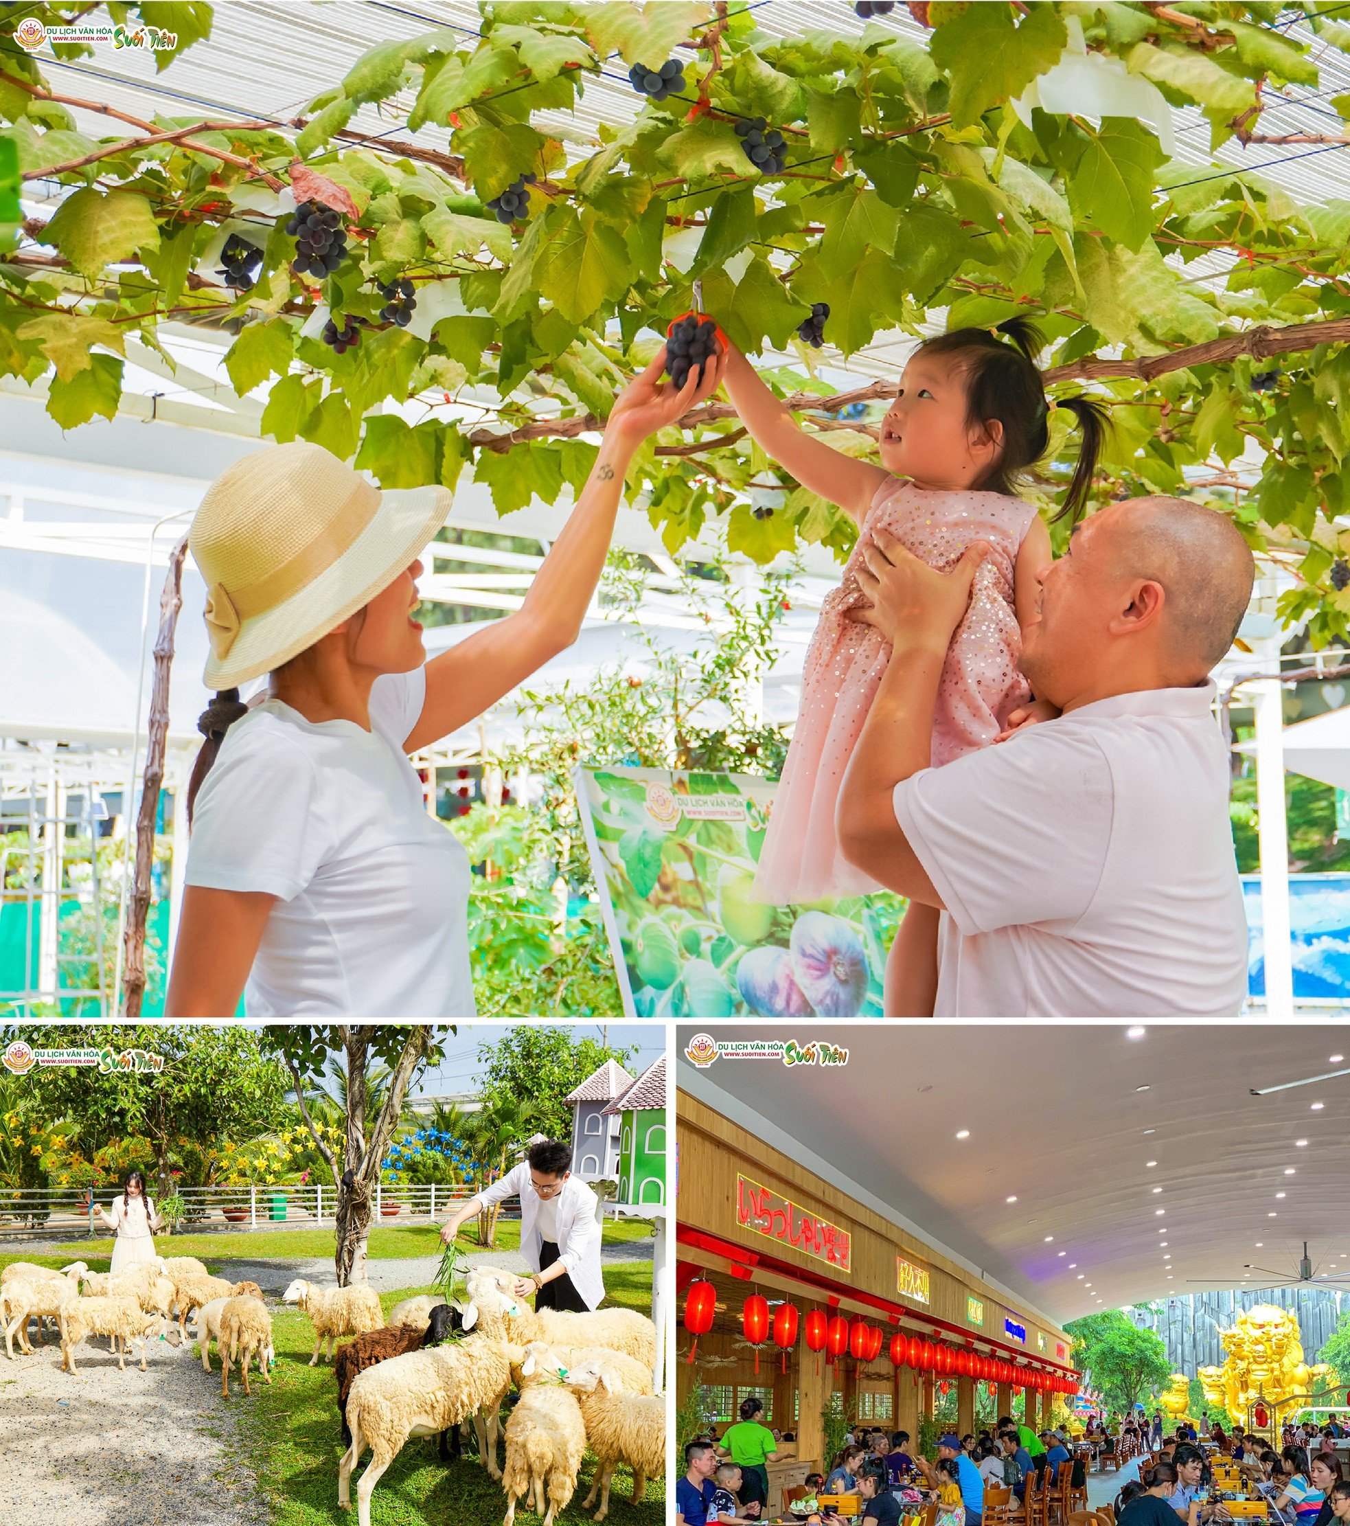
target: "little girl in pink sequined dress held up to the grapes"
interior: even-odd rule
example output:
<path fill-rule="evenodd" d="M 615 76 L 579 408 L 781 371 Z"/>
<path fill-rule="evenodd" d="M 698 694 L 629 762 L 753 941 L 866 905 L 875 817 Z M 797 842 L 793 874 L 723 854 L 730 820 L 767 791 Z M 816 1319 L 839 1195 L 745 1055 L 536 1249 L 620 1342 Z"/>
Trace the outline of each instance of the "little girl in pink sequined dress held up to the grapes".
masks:
<path fill-rule="evenodd" d="M 1013 491 L 1016 473 L 1049 443 L 1048 414 L 1056 404 L 1046 400 L 1033 359 L 1040 346 L 1024 319 L 921 343 L 882 424 L 880 465 L 804 433 L 744 356 L 729 351 L 725 385 L 749 433 L 798 482 L 859 523 L 844 580 L 825 598 L 807 652 L 801 708 L 760 853 L 755 899 L 787 905 L 882 888 L 844 858 L 834 830 L 844 772 L 889 659 L 889 644 L 873 626 L 847 618 L 866 603 L 857 569 L 877 526 L 940 571 L 953 568 L 972 542 L 990 548 L 947 649 L 934 713 L 934 766 L 1056 714 L 1034 702 L 1017 670 L 1021 624 L 1034 618 L 1037 574 L 1051 560 L 1045 523 Z M 1091 485 L 1101 417 L 1085 398 L 1060 406 L 1072 409 L 1083 427 L 1085 446 L 1063 508 L 1077 514 Z M 937 980 L 937 928 L 934 908 L 911 905 L 888 961 L 888 1016 L 921 1015 L 892 1012 L 892 1004 L 923 1004 Z M 908 967 L 897 967 L 902 960 Z"/>

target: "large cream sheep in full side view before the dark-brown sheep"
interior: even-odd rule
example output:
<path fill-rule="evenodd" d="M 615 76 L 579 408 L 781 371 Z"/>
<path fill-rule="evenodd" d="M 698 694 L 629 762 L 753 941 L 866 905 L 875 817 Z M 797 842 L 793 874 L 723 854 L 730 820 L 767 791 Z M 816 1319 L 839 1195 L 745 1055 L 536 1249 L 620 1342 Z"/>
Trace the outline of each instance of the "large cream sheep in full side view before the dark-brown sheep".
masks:
<path fill-rule="evenodd" d="M 511 1387 L 511 1364 L 525 1351 L 490 1335 L 391 1357 L 357 1373 L 346 1396 L 351 1447 L 337 1465 L 337 1503 L 351 1509 L 351 1476 L 366 1447 L 371 1462 L 357 1483 L 360 1526 L 371 1526 L 371 1494 L 410 1436 L 435 1436 L 485 1413 L 496 1451 L 496 1416 Z M 488 1473 L 500 1477 L 496 1457 Z"/>

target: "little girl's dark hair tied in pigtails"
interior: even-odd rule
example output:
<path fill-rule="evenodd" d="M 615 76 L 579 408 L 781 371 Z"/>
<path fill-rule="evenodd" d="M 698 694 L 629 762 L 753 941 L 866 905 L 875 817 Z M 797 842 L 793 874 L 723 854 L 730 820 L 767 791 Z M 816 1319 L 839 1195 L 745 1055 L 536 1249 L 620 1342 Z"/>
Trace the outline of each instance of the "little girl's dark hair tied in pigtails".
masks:
<path fill-rule="evenodd" d="M 967 426 L 987 427 L 993 420 L 1002 426 L 1002 452 L 984 479 L 973 484 L 984 493 L 1014 493 L 1021 473 L 1045 455 L 1051 407 L 1065 407 L 1074 415 L 1083 444 L 1063 507 L 1054 514 L 1054 519 L 1074 523 L 1086 507 L 1109 420 L 1094 398 L 1046 398 L 1045 378 L 1036 365 L 1043 348 L 1045 336 L 1030 319 L 1008 317 L 996 328 L 955 328 L 926 339 L 915 354 L 949 356 L 961 366 Z"/>

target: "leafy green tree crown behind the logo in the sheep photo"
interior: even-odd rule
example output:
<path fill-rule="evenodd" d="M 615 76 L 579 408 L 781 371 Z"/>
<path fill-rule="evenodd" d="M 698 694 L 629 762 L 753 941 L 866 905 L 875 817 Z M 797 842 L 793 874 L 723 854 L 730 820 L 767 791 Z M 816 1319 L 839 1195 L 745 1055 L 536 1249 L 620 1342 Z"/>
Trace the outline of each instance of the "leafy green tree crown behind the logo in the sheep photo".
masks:
<path fill-rule="evenodd" d="M 93 1157 L 127 1137 L 149 1141 L 156 1189 L 165 1195 L 169 1167 L 185 1151 L 217 1154 L 226 1140 L 249 1140 L 276 1126 L 284 1112 L 285 1068 L 250 1029 L 116 1025 L 81 1029 L 76 1042 L 116 1051 L 143 1048 L 163 1058 L 162 1071 L 110 1071 L 52 1065 L 27 1079 L 34 1106 L 78 1131 Z"/>

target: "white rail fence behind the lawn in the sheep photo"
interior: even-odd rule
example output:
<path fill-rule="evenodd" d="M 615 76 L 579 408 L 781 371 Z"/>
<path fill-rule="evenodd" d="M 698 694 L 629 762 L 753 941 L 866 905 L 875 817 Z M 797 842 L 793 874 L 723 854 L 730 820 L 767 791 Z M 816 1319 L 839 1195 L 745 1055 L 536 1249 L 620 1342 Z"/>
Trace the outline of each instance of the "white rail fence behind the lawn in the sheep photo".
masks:
<path fill-rule="evenodd" d="M 111 1210 L 116 1192 L 95 1192 L 93 1204 Z M 151 1202 L 157 1193 L 151 1190 Z M 304 1187 L 180 1187 L 188 1213 L 178 1233 L 215 1230 L 317 1228 L 333 1224 L 337 1189 L 328 1183 Z M 375 1189 L 372 1224 L 432 1224 L 473 1196 L 470 1187 L 398 1186 Z M 96 1239 L 108 1233 L 84 1189 L 0 1189 L 0 1242 L 34 1239 Z M 502 1218 L 519 1218 L 517 1204 L 503 1204 Z"/>

